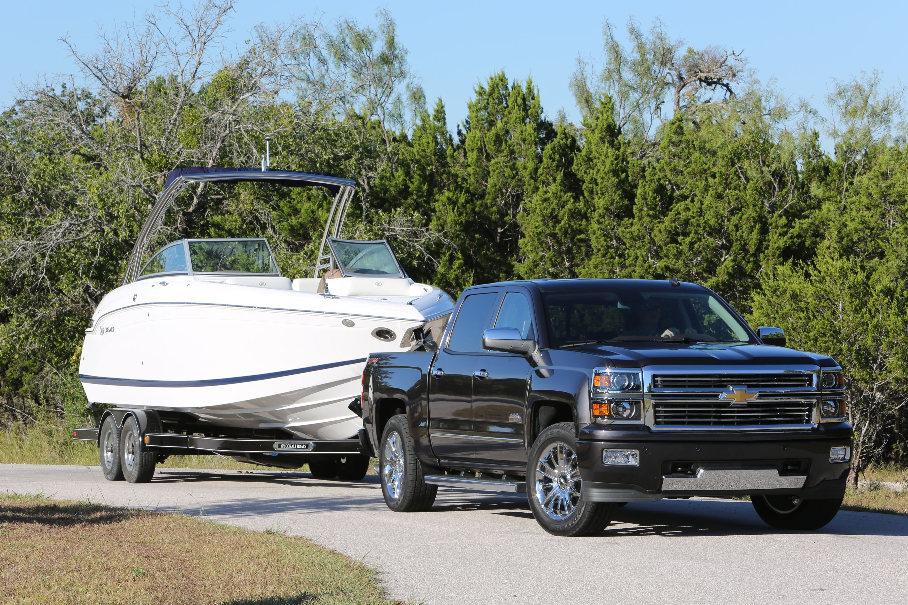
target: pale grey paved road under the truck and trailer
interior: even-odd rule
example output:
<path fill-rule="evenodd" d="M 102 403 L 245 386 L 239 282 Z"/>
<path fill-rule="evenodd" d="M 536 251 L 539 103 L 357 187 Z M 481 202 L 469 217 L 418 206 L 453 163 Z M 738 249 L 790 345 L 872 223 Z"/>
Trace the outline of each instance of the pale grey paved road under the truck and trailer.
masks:
<path fill-rule="evenodd" d="M 394 597 L 443 603 L 908 603 L 908 517 L 840 512 L 779 532 L 750 503 L 628 504 L 597 537 L 556 538 L 525 499 L 439 490 L 390 512 L 376 477 L 164 470 L 104 481 L 99 467 L 0 464 L 0 492 L 199 514 L 307 536 L 382 571 Z M 262 561 L 268 564 L 268 561 Z"/>

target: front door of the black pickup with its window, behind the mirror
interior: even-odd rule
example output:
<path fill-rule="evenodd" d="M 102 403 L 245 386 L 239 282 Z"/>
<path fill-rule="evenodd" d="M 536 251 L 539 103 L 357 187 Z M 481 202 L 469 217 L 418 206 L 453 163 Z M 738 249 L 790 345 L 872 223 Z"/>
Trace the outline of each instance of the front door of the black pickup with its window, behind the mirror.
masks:
<path fill-rule="evenodd" d="M 532 307 L 520 289 L 505 292 L 494 327 L 516 327 L 535 337 Z M 531 366 L 516 353 L 485 352 L 473 370 L 473 440 L 480 461 L 527 463 L 524 420 Z"/>

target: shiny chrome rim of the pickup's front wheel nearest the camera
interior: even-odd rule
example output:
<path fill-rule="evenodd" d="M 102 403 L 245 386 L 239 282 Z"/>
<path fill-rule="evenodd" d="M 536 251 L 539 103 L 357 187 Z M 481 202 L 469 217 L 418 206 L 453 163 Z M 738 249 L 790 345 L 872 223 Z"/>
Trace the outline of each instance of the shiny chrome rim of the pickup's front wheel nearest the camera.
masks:
<path fill-rule="evenodd" d="M 548 517 L 564 521 L 580 501 L 580 469 L 577 454 L 556 441 L 539 456 L 536 464 L 536 499 Z"/>

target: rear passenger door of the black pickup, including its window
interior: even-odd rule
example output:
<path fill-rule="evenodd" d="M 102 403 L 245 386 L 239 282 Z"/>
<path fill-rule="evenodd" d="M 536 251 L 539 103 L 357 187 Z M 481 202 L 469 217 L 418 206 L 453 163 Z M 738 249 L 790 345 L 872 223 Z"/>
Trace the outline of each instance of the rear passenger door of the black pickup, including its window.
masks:
<path fill-rule="evenodd" d="M 473 448 L 473 370 L 482 352 L 482 331 L 498 292 L 471 294 L 429 368 L 429 439 L 441 459 L 475 460 Z"/>

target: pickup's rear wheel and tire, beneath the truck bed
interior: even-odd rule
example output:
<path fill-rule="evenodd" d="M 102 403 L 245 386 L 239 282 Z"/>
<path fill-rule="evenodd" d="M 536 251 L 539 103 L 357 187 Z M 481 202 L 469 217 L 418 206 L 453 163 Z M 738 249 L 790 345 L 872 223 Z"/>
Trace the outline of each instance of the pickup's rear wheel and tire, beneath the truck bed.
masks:
<path fill-rule="evenodd" d="M 439 493 L 438 485 L 422 479 L 422 468 L 413 451 L 406 415 L 391 416 L 381 435 L 379 451 L 381 495 L 394 512 L 428 511 Z"/>

